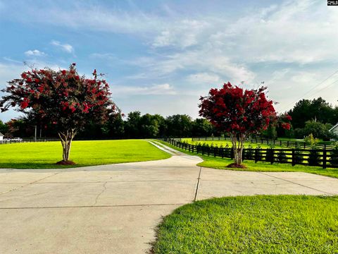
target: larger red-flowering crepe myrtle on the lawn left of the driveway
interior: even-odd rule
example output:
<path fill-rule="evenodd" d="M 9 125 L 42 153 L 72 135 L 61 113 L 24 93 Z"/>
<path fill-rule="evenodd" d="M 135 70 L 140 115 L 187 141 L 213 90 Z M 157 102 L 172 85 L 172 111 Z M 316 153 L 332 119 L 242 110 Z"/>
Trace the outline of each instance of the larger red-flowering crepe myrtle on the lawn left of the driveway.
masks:
<path fill-rule="evenodd" d="M 8 82 L 0 100 L 1 111 L 10 107 L 27 114 L 30 119 L 53 124 L 63 147 L 63 160 L 69 161 L 70 147 L 77 131 L 90 119 L 104 123 L 109 116 L 120 114 L 111 100 L 109 85 L 96 70 L 92 78 L 80 76 L 71 64 L 68 70 L 32 69 Z"/>

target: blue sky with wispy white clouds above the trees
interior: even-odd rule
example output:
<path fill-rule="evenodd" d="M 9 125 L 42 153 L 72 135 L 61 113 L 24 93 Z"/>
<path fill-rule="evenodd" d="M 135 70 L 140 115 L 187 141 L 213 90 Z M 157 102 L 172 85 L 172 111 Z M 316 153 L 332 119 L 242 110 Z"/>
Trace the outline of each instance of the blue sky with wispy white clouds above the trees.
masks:
<path fill-rule="evenodd" d="M 106 75 L 125 114 L 196 118 L 199 97 L 228 81 L 264 82 L 280 113 L 303 98 L 337 105 L 337 24 L 326 0 L 0 0 L 0 89 L 27 66 L 77 63 Z"/>

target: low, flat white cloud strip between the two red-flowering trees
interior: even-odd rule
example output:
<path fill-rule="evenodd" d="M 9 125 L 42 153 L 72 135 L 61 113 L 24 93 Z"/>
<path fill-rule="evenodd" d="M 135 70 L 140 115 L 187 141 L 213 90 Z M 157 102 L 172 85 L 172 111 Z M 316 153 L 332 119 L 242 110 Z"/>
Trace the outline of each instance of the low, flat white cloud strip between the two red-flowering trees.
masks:
<path fill-rule="evenodd" d="M 132 96 L 132 95 L 176 95 L 173 86 L 168 83 L 149 86 L 118 86 L 112 88 L 113 96 Z"/>

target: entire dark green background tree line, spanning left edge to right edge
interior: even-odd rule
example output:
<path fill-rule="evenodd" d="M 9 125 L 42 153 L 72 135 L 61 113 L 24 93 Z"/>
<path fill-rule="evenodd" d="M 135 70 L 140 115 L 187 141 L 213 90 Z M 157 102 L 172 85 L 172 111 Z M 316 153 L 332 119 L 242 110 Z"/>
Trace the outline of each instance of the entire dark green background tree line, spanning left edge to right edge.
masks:
<path fill-rule="evenodd" d="M 338 106 L 317 99 L 301 99 L 287 111 L 292 116 L 291 128 L 269 126 L 261 135 L 265 138 L 303 138 L 311 133 L 315 138 L 328 140 L 332 137 L 330 128 L 338 123 Z M 32 138 L 35 135 L 42 138 L 57 137 L 52 124 L 39 125 L 25 117 L 3 123 L 0 121 L 0 132 L 8 137 Z M 89 121 L 84 130 L 78 133 L 78 138 L 163 138 L 163 137 L 204 137 L 221 135 L 206 119 L 192 119 L 186 114 L 175 114 L 163 117 L 160 114 L 141 114 L 132 111 L 123 116 L 111 117 L 104 124 Z"/>

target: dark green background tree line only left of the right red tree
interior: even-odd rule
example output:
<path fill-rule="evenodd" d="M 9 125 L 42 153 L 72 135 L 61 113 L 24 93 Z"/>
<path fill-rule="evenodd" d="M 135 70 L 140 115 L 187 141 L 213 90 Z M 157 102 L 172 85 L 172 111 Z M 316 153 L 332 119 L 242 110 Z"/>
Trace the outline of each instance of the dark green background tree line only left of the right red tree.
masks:
<path fill-rule="evenodd" d="M 0 121 L 0 132 L 5 136 L 33 138 L 35 123 L 25 117 L 12 119 L 7 123 Z M 112 116 L 106 123 L 88 121 L 77 134 L 80 139 L 94 138 L 163 138 L 163 137 L 201 137 L 220 135 L 206 119 L 192 119 L 186 114 L 163 117 L 160 114 L 141 114 L 132 111 L 125 118 Z M 57 137 L 53 124 L 37 124 L 37 138 Z"/>

